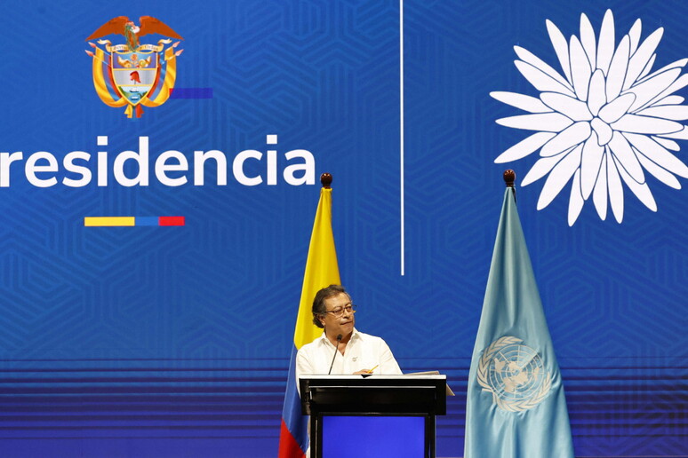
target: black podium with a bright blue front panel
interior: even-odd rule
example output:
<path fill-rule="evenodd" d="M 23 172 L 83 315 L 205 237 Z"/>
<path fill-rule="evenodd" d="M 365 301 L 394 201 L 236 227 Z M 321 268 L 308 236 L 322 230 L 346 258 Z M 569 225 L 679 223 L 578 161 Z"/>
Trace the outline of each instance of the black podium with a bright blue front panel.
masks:
<path fill-rule="evenodd" d="M 311 458 L 435 458 L 445 375 L 302 375 Z"/>

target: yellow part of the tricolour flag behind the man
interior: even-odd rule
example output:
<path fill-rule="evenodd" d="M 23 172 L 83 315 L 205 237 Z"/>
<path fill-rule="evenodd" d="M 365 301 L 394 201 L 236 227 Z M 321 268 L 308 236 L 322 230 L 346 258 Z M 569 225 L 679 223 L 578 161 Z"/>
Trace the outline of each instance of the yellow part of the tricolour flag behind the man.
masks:
<path fill-rule="evenodd" d="M 340 282 L 340 266 L 337 264 L 337 251 L 334 249 L 332 236 L 332 189 L 322 188 L 308 246 L 299 315 L 294 329 L 294 345 L 297 350 L 323 334 L 323 330 L 313 324 L 311 308 L 316 292 L 326 286 L 339 285 Z"/>

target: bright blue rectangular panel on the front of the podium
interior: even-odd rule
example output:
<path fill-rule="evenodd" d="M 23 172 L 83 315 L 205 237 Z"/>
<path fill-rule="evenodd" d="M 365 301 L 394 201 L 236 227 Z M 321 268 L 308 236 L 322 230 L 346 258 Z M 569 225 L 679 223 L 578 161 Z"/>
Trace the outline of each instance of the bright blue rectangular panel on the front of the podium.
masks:
<path fill-rule="evenodd" d="M 324 416 L 323 458 L 422 458 L 423 416 Z"/>

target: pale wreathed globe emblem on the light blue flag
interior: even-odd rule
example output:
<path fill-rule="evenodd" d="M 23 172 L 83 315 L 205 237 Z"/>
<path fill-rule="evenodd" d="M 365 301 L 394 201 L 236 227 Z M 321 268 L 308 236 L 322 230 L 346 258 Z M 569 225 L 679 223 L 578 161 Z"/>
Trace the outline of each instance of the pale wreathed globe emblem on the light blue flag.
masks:
<path fill-rule="evenodd" d="M 492 392 L 492 402 L 508 412 L 520 412 L 540 404 L 552 386 L 552 376 L 537 351 L 523 340 L 504 336 L 483 352 L 477 382 Z"/>

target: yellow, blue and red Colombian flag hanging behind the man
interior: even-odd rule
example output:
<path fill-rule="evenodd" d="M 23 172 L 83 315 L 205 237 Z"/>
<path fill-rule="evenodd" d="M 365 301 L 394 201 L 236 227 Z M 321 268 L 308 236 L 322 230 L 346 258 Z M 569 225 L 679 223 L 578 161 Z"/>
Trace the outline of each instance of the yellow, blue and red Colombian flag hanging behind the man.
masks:
<path fill-rule="evenodd" d="M 289 363 L 289 379 L 282 408 L 282 429 L 279 434 L 278 458 L 302 458 L 308 449 L 308 417 L 301 415 L 299 391 L 296 389 L 296 351 L 311 343 L 323 333 L 313 324 L 311 306 L 316 292 L 329 285 L 340 284 L 340 267 L 332 236 L 332 189 L 320 190 L 316 221 L 310 236 L 306 272 L 303 274 L 303 288 L 299 314 L 294 329 L 294 346 Z"/>

